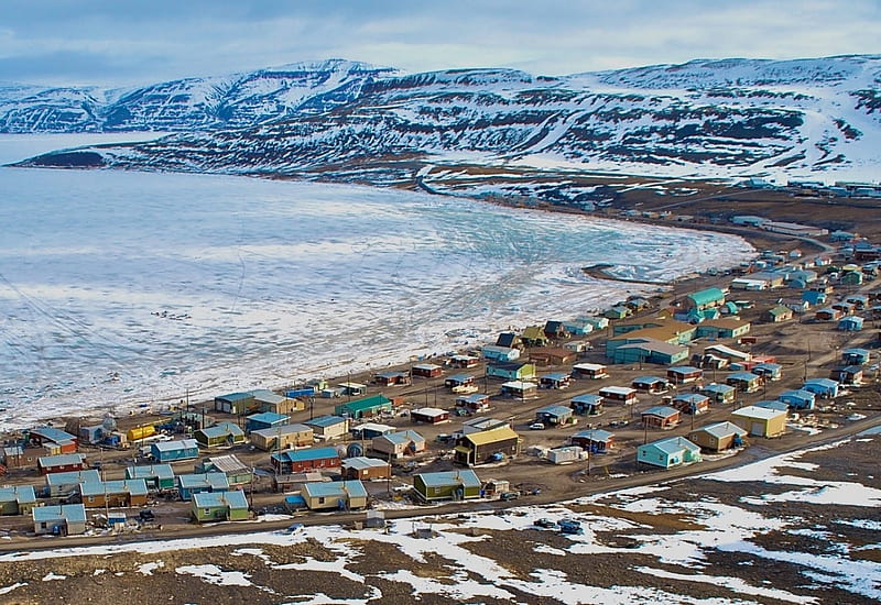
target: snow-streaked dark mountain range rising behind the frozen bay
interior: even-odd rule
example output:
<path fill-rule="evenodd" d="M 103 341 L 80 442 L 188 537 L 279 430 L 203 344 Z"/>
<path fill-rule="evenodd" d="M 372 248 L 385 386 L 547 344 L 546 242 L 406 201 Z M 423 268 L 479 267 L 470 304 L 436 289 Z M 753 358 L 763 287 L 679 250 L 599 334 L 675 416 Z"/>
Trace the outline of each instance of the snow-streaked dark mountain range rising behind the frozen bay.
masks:
<path fill-rule="evenodd" d="M 562 77 L 333 59 L 138 90 L 0 88 L 4 132 L 172 132 L 29 165 L 413 184 L 460 164 L 663 176 L 879 168 L 881 56 L 699 59 Z M 474 170 L 472 170 L 474 172 Z"/>

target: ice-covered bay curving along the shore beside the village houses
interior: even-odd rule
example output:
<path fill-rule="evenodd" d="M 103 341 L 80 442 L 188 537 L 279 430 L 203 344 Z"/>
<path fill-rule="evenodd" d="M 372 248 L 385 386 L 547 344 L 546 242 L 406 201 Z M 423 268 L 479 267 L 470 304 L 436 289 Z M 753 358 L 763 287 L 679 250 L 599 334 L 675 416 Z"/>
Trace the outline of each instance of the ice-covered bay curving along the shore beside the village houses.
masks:
<path fill-rule="evenodd" d="M 0 169 L 3 428 L 379 370 L 568 319 L 743 240 L 251 178 Z M 651 289 L 651 288 L 649 288 Z"/>

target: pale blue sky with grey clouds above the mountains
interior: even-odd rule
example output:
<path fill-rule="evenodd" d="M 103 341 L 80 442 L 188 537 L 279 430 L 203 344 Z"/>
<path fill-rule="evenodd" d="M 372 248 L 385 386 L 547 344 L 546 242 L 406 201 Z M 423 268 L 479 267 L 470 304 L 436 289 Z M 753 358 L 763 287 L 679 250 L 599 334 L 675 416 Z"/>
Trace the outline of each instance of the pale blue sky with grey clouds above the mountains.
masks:
<path fill-rule="evenodd" d="M 132 86 L 329 57 L 563 75 L 881 54 L 879 0 L 2 0 L 0 81 Z"/>

